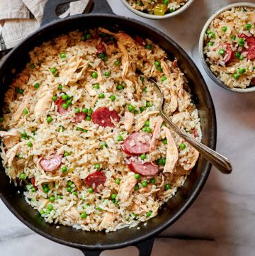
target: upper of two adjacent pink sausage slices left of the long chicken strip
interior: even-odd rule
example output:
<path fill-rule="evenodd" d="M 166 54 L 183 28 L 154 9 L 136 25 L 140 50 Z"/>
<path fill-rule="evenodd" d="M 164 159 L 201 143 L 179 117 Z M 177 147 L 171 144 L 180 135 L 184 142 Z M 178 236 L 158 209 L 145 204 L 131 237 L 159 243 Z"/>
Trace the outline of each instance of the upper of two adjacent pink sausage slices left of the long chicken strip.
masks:
<path fill-rule="evenodd" d="M 151 136 L 147 133 L 132 133 L 123 143 L 123 151 L 128 155 L 141 155 L 149 152 Z"/>

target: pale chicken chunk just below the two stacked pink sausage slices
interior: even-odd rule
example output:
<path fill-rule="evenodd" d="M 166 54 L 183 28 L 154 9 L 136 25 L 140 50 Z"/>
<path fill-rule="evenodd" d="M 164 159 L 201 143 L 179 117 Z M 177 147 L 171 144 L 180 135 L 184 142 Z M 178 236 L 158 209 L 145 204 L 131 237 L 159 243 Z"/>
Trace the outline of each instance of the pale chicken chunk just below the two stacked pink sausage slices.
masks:
<path fill-rule="evenodd" d="M 123 182 L 120 184 L 120 202 L 125 202 L 128 199 L 128 196 L 135 188 L 137 184 L 137 179 L 135 179 L 135 173 L 129 172 L 128 175 L 123 179 Z"/>

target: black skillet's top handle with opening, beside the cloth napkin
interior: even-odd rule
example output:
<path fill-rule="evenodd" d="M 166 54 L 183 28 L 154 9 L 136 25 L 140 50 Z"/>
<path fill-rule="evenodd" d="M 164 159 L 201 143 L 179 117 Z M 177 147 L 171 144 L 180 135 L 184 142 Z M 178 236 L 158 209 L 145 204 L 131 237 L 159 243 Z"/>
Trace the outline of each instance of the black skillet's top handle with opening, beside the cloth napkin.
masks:
<path fill-rule="evenodd" d="M 40 26 L 45 26 L 47 23 L 52 21 L 57 21 L 60 19 L 56 14 L 56 8 L 60 4 L 67 4 L 70 2 L 79 1 L 79 0 L 47 0 L 42 16 L 42 23 Z M 93 10 L 91 11 L 91 9 Z M 84 13 L 108 13 L 113 14 L 111 7 L 108 4 L 107 0 L 89 0 L 86 6 Z"/>

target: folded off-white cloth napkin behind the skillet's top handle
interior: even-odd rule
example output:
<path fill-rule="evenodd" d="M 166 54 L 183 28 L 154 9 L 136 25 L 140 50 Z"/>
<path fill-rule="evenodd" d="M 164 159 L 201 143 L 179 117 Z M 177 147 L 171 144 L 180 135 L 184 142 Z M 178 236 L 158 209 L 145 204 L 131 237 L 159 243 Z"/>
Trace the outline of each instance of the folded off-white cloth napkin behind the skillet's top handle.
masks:
<path fill-rule="evenodd" d="M 0 51 L 13 48 L 39 28 L 46 1 L 0 0 Z M 64 18 L 83 13 L 88 3 L 89 0 L 79 0 L 63 4 L 57 14 Z"/>

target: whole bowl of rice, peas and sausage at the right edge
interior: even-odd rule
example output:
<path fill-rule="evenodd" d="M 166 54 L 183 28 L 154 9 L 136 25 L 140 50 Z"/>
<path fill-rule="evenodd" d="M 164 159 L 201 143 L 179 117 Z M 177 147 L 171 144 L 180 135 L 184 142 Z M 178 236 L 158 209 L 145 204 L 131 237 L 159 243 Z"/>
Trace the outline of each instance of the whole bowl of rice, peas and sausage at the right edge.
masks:
<path fill-rule="evenodd" d="M 225 6 L 205 23 L 199 40 L 205 72 L 220 87 L 255 91 L 255 4 Z"/>

